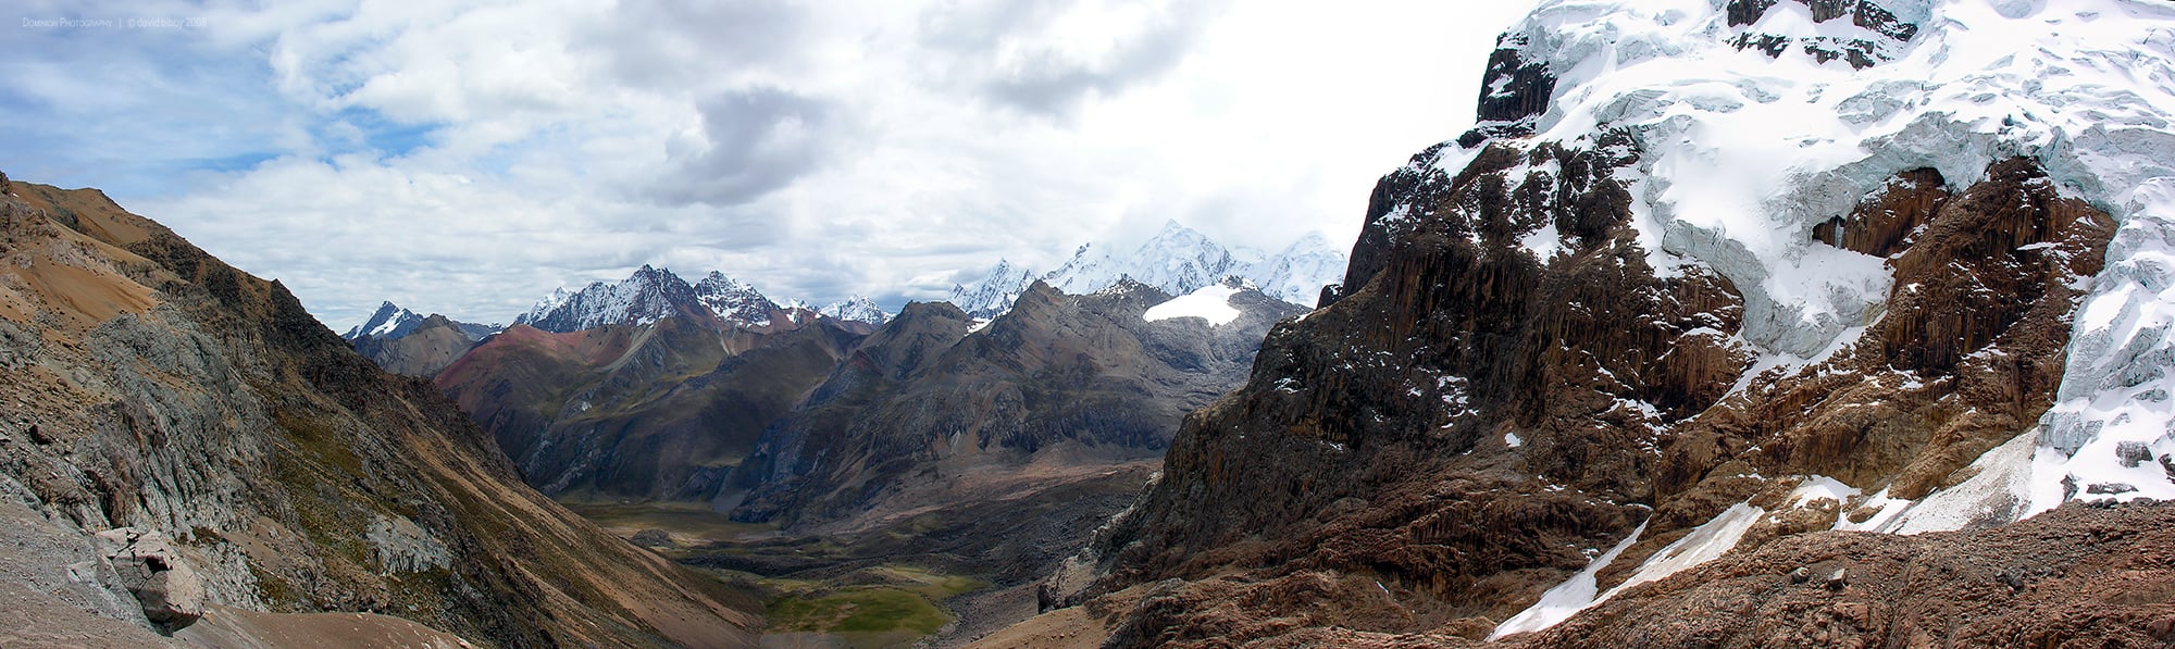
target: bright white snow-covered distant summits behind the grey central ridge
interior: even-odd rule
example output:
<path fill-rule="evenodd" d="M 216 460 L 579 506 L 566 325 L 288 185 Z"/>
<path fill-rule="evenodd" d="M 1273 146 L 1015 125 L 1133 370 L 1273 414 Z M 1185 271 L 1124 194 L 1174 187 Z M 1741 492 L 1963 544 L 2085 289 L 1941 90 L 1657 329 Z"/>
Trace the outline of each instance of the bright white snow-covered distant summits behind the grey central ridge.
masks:
<path fill-rule="evenodd" d="M 1170 220 L 1131 253 L 1114 253 L 1107 244 L 1083 244 L 1072 250 L 1072 259 L 1040 277 L 1011 261 L 998 261 L 981 281 L 953 287 L 950 303 L 974 318 L 994 318 L 1011 309 L 1035 279 L 1066 294 L 1092 294 L 1120 279 L 1133 279 L 1183 296 L 1218 285 L 1227 277 L 1240 277 L 1268 296 L 1312 307 L 1325 285 L 1344 277 L 1344 253 L 1329 248 L 1329 240 L 1320 233 L 1307 233 L 1281 253 L 1259 259 L 1255 250 L 1229 248 Z"/>

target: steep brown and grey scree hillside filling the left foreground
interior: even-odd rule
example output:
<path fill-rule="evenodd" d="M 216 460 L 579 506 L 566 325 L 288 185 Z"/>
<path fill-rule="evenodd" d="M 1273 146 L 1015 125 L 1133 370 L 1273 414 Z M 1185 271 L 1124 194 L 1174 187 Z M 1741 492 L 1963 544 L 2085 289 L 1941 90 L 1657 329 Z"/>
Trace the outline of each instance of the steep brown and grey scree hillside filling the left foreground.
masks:
<path fill-rule="evenodd" d="M 96 189 L 7 187 L 0 642 L 755 642 L 759 603 L 522 486 L 281 283 Z"/>

